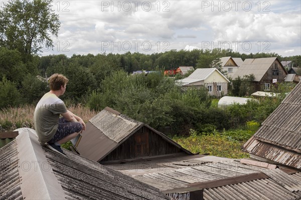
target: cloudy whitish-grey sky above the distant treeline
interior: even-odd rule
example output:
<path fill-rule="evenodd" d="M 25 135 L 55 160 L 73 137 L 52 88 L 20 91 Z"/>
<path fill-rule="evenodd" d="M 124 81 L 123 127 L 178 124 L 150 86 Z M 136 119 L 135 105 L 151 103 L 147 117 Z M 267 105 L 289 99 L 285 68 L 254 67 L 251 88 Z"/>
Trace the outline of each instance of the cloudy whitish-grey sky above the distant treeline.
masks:
<path fill-rule="evenodd" d="M 301 54 L 300 0 L 54 0 L 61 27 L 42 55 L 232 48 Z"/>

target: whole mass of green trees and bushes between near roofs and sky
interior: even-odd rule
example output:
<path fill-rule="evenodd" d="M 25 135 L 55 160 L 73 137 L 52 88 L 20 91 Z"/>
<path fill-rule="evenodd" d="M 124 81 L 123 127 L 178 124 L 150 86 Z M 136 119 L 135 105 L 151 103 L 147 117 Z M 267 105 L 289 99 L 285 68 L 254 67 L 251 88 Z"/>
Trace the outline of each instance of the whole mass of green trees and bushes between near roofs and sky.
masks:
<path fill-rule="evenodd" d="M 97 55 L 27 56 L 18 50 L 0 48 L 0 107 L 35 104 L 49 90 L 43 77 L 63 73 L 69 78 L 62 98 L 68 104 L 89 106 L 101 110 L 110 106 L 155 128 L 170 126 L 176 132 L 229 129 L 246 121 L 262 122 L 280 103 L 266 99 L 219 109 L 211 105 L 212 98 L 205 88 L 183 90 L 173 78 L 165 77 L 163 69 L 180 65 L 200 66 L 206 56 L 242 56 L 231 50 L 214 49 L 168 51 L 151 55 L 141 53 Z M 248 55 L 277 56 L 275 53 Z M 171 58 L 172 57 L 172 58 Z M 293 57 L 289 57 L 293 58 Z M 281 58 L 279 58 L 281 59 Z M 186 63 L 187 61 L 187 63 Z M 149 65 L 148 65 L 149 64 Z M 149 74 L 132 75 L 132 70 L 154 70 Z M 40 75 L 40 78 L 37 78 Z M 245 95 L 245 77 L 233 81 L 232 94 Z M 237 93 L 235 93 L 237 92 Z"/>

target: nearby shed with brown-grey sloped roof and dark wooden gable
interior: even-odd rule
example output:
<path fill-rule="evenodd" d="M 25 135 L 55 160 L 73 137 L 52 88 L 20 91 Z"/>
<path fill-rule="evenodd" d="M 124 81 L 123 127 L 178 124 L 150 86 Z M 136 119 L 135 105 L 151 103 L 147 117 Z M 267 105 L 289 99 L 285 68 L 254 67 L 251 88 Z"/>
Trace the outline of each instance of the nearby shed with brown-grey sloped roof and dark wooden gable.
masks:
<path fill-rule="evenodd" d="M 109 107 L 92 117 L 73 143 L 82 156 L 100 163 L 192 154 L 162 132 Z"/>

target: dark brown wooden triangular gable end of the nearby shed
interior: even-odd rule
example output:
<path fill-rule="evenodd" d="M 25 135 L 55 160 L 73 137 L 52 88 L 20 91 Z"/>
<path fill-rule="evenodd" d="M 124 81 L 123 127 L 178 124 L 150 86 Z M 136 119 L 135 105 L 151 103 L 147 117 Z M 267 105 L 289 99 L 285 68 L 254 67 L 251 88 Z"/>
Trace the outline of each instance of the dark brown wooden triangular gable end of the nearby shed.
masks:
<path fill-rule="evenodd" d="M 182 152 L 183 150 L 164 139 L 145 125 L 124 140 L 100 163 L 113 160 L 141 158 Z"/>

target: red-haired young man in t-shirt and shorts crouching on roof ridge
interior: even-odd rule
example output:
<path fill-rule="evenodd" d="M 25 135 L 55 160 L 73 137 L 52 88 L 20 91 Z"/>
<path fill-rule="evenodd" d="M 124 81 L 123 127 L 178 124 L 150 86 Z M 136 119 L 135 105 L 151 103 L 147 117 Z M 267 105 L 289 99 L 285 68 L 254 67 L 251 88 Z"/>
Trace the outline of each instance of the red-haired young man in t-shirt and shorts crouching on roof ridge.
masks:
<path fill-rule="evenodd" d="M 61 144 L 75 138 L 86 127 L 84 121 L 67 110 L 64 101 L 59 98 L 64 94 L 67 83 L 68 78 L 62 74 L 50 76 L 50 91 L 40 99 L 34 113 L 35 129 L 40 142 L 47 142 L 50 149 L 63 154 Z"/>

